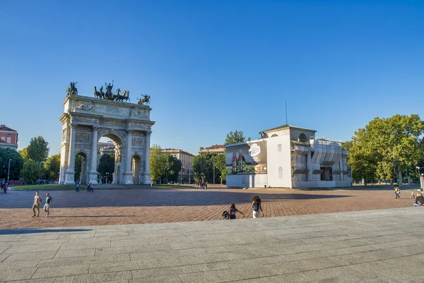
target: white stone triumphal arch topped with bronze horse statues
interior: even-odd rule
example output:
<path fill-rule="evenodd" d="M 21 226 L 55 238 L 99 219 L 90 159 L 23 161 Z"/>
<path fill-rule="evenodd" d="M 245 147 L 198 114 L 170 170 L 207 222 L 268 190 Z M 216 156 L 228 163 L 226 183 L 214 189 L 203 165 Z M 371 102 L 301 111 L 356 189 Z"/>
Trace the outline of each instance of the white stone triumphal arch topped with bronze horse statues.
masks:
<path fill-rule="evenodd" d="M 98 142 L 107 137 L 114 142 L 113 183 L 150 184 L 150 140 L 151 107 L 146 105 L 150 97 L 145 96 L 138 104 L 129 100 L 129 92 L 120 90 L 112 93 L 112 86 L 106 85 L 106 92 L 95 97 L 78 95 L 75 83 L 66 90 L 62 123 L 61 162 L 59 181 L 63 184 L 91 182 L 97 184 Z M 81 179 L 75 180 L 75 157 L 83 157 Z"/>

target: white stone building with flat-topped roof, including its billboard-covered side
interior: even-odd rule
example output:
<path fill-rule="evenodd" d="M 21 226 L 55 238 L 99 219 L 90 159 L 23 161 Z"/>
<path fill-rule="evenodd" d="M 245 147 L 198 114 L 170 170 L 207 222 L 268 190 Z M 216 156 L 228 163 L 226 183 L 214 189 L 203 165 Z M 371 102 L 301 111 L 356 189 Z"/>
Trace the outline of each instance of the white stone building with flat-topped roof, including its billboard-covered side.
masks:
<path fill-rule="evenodd" d="M 351 171 L 346 163 L 349 153 L 340 142 L 315 139 L 315 132 L 283 125 L 261 131 L 259 140 L 227 145 L 227 186 L 351 186 Z"/>

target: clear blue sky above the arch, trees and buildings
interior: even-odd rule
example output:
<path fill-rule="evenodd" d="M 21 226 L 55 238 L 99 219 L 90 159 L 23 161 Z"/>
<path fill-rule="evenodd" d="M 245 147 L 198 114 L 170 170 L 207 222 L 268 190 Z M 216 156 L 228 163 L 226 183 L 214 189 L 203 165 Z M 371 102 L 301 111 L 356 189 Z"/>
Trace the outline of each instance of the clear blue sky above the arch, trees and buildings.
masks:
<path fill-rule="evenodd" d="M 59 152 L 69 82 L 151 95 L 151 143 L 196 154 L 288 123 L 349 140 L 424 105 L 423 1 L 1 1 L 1 124 Z"/>

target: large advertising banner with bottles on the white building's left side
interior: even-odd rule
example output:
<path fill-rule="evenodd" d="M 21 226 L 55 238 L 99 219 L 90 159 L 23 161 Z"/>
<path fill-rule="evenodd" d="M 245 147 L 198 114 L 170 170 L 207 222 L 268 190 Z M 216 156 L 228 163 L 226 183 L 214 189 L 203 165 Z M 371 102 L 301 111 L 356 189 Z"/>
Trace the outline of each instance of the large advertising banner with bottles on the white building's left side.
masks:
<path fill-rule="evenodd" d="M 226 147 L 225 168 L 231 174 L 266 174 L 266 141 Z"/>

